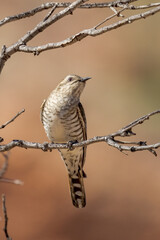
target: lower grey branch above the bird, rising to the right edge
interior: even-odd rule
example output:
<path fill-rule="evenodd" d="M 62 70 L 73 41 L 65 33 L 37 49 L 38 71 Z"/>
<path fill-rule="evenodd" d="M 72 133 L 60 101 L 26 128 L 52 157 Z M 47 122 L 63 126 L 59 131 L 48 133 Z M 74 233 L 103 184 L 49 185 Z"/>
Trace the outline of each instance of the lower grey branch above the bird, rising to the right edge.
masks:
<path fill-rule="evenodd" d="M 37 47 L 29 47 L 26 45 L 20 45 L 18 48 L 18 51 L 21 52 L 27 52 L 27 53 L 35 53 L 35 54 L 39 54 L 40 52 L 46 51 L 46 50 L 50 50 L 50 49 L 55 49 L 55 48 L 62 48 L 62 47 L 66 47 L 68 45 L 74 44 L 78 41 L 81 41 L 82 39 L 86 38 L 87 36 L 91 36 L 91 37 L 95 37 L 101 34 L 104 34 L 106 32 L 109 32 L 111 30 L 117 29 L 121 26 L 127 25 L 127 24 L 131 24 L 137 20 L 140 19 L 145 19 L 149 16 L 152 16 L 153 14 L 156 14 L 160 12 L 160 6 L 156 7 L 154 9 L 151 9 L 149 11 L 146 11 L 144 13 L 140 13 L 137 15 L 133 15 L 131 17 L 128 17 L 126 19 L 123 19 L 121 21 L 118 21 L 116 23 L 110 24 L 108 26 L 102 27 L 100 29 L 96 29 L 97 25 L 93 28 L 90 29 L 86 29 L 83 30 L 75 35 L 72 35 L 71 37 L 60 41 L 60 42 L 56 42 L 56 43 L 47 43 L 45 45 L 41 45 L 41 46 L 37 46 Z M 113 15 L 114 16 L 114 15 Z"/>

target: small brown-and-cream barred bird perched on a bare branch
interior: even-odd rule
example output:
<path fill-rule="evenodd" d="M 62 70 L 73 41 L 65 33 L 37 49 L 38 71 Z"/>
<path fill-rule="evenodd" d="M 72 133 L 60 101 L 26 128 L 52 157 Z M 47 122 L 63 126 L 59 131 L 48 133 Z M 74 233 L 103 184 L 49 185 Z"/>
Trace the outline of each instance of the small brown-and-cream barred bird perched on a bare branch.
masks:
<path fill-rule="evenodd" d="M 58 149 L 68 172 L 72 203 L 76 208 L 86 205 L 83 170 L 86 146 L 72 149 L 72 144 L 87 140 L 87 122 L 80 96 L 90 77 L 68 75 L 41 105 L 41 122 L 48 139 L 67 143 L 68 149 Z"/>

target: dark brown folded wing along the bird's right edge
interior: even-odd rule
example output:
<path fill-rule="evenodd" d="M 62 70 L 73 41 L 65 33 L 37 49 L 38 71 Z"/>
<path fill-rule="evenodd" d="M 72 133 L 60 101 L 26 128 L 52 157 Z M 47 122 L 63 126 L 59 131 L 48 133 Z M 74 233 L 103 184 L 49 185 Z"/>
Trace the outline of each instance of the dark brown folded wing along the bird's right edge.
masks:
<path fill-rule="evenodd" d="M 81 104 L 80 102 L 79 102 L 79 104 L 78 104 L 78 115 L 79 115 L 79 119 L 80 119 L 81 125 L 82 125 L 83 140 L 87 140 L 87 121 L 86 121 L 86 116 L 85 116 L 84 108 L 83 108 L 83 106 L 82 106 L 82 104 Z M 84 146 L 84 147 L 83 147 L 82 166 L 84 165 L 85 158 L 86 158 L 86 148 L 87 148 L 87 146 Z"/>

